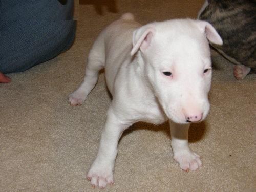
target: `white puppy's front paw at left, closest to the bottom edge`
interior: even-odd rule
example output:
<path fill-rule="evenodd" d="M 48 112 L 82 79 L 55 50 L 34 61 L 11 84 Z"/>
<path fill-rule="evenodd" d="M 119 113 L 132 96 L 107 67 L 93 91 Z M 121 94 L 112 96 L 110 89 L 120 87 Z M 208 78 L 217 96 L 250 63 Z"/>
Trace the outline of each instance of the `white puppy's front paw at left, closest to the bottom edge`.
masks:
<path fill-rule="evenodd" d="M 88 174 L 87 180 L 91 181 L 93 188 L 105 188 L 107 184 L 114 184 L 114 177 L 111 166 L 92 165 Z"/>

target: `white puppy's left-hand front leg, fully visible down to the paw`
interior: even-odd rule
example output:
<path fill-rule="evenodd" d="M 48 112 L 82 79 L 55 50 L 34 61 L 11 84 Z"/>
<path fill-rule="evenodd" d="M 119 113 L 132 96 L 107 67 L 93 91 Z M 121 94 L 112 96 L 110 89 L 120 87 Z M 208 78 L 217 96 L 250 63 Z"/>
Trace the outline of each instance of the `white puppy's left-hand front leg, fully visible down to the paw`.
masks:
<path fill-rule="evenodd" d="M 114 183 L 113 170 L 117 155 L 118 140 L 123 131 L 131 124 L 120 120 L 110 106 L 105 127 L 101 135 L 98 155 L 87 174 L 93 187 L 105 188 L 107 184 Z"/>

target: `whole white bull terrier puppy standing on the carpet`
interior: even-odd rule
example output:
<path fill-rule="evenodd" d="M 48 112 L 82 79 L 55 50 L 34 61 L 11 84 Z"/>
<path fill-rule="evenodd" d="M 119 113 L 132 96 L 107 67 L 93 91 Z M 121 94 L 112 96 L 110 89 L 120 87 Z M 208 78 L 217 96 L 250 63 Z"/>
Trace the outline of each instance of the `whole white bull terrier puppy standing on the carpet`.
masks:
<path fill-rule="evenodd" d="M 69 96 L 80 105 L 94 88 L 100 69 L 113 96 L 98 155 L 87 175 L 91 184 L 113 184 L 117 145 L 123 131 L 138 121 L 160 124 L 170 120 L 174 159 L 183 170 L 201 166 L 188 146 L 190 122 L 208 111 L 211 60 L 208 40 L 222 39 L 207 22 L 174 19 L 142 26 L 131 13 L 106 27 L 89 54 L 86 75 Z"/>

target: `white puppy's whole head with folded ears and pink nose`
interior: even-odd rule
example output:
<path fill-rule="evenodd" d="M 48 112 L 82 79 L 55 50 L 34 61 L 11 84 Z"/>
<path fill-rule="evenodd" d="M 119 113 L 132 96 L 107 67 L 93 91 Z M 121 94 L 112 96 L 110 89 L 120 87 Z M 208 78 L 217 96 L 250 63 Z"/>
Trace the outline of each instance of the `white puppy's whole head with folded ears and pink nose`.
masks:
<path fill-rule="evenodd" d="M 211 60 L 208 40 L 222 39 L 207 22 L 174 19 L 134 31 L 131 55 L 139 52 L 143 73 L 168 118 L 198 122 L 209 111 Z"/>

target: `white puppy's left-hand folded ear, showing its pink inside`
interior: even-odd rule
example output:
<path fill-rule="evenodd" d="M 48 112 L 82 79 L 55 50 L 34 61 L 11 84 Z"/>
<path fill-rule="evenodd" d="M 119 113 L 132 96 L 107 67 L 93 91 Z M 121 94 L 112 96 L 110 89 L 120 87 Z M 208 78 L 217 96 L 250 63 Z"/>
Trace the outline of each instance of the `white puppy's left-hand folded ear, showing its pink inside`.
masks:
<path fill-rule="evenodd" d="M 133 32 L 133 49 L 131 55 L 134 55 L 139 49 L 144 52 L 150 46 L 154 35 L 155 29 L 151 24 L 136 29 Z"/>

